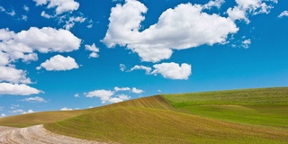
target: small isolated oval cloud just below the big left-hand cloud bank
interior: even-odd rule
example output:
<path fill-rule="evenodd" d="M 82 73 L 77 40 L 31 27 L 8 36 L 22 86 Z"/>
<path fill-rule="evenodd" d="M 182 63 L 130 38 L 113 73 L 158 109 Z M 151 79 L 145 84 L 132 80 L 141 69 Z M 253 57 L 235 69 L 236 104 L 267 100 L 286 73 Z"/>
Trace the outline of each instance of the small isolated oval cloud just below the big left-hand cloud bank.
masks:
<path fill-rule="evenodd" d="M 56 55 L 52 58 L 47 59 L 45 62 L 40 64 L 40 67 L 37 67 L 39 70 L 41 67 L 44 67 L 48 71 L 60 71 L 60 70 L 71 70 L 78 68 L 74 58 L 63 57 L 61 55 Z"/>

